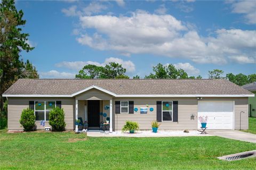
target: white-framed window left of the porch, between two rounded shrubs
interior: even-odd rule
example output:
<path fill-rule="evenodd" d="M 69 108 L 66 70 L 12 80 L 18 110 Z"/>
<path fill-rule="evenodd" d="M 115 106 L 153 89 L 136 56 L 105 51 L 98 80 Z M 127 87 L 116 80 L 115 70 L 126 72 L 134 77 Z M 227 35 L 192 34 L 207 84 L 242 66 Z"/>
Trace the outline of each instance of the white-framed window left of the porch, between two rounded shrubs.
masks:
<path fill-rule="evenodd" d="M 35 101 L 36 121 L 49 121 L 49 113 L 55 107 L 55 101 Z"/>

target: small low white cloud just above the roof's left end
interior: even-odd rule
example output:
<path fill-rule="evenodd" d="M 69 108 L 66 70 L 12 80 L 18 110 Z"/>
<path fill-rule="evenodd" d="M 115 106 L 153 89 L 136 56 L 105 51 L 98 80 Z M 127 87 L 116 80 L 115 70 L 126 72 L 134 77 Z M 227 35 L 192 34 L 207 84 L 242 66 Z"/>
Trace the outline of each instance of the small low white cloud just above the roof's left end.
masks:
<path fill-rule="evenodd" d="M 58 72 L 56 70 L 51 70 L 48 72 L 39 72 L 40 78 L 59 78 L 59 79 L 64 79 L 64 78 L 75 78 L 75 73 L 68 73 L 68 72 Z"/>

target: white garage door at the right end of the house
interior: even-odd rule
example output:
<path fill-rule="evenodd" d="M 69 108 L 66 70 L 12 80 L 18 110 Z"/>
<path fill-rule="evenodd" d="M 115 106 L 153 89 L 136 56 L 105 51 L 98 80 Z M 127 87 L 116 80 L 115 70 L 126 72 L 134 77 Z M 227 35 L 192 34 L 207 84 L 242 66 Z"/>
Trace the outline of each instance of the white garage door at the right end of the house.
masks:
<path fill-rule="evenodd" d="M 234 129 L 233 101 L 198 101 L 198 117 L 208 116 L 208 129 Z M 198 129 L 201 122 L 198 120 Z"/>

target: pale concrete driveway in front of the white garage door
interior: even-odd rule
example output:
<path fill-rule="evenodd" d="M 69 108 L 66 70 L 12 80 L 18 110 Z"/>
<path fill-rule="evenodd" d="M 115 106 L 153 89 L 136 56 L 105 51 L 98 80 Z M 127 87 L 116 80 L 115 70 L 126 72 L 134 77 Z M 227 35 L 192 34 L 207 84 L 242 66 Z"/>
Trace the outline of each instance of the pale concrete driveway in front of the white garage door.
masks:
<path fill-rule="evenodd" d="M 256 143 L 256 134 L 252 134 L 252 133 L 246 133 L 246 132 L 234 131 L 234 130 L 207 130 L 207 133 L 215 136 L 223 137 L 223 138 Z"/>

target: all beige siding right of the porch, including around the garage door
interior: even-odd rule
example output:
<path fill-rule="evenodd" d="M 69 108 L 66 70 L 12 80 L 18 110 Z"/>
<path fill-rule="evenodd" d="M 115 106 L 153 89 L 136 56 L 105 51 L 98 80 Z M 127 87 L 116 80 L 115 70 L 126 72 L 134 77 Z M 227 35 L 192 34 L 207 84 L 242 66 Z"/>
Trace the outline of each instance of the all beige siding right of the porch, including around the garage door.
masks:
<path fill-rule="evenodd" d="M 134 114 L 115 114 L 115 101 L 129 100 L 134 101 L 134 107 L 138 108 L 138 112 Z M 226 100 L 235 102 L 235 129 L 240 128 L 240 112 L 241 114 L 241 129 L 248 127 L 248 105 L 247 97 L 243 98 L 203 98 L 203 100 Z M 197 129 L 197 98 L 114 98 L 113 100 L 113 129 L 121 130 L 125 121 L 135 121 L 140 125 L 141 130 L 150 130 L 151 122 L 156 121 L 156 101 L 178 101 L 178 122 L 161 122 L 159 130 L 184 130 Z M 140 114 L 140 107 L 148 107 L 147 114 Z M 150 112 L 149 108 L 153 107 L 154 111 Z M 194 120 L 190 120 L 193 114 Z"/>

